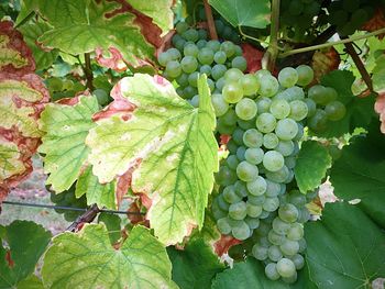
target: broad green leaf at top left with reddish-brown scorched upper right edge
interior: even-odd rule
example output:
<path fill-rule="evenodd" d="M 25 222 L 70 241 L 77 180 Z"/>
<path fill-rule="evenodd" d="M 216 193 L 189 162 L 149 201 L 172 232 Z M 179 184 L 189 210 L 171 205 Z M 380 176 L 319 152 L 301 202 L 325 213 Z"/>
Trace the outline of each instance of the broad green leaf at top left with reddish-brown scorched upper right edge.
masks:
<path fill-rule="evenodd" d="M 133 66 L 141 65 L 141 59 L 153 59 L 155 48 L 142 35 L 135 15 L 120 8 L 118 1 L 108 0 L 43 1 L 40 12 L 54 29 L 38 41 L 70 54 L 90 53 L 97 47 L 108 51 L 113 46 Z"/>

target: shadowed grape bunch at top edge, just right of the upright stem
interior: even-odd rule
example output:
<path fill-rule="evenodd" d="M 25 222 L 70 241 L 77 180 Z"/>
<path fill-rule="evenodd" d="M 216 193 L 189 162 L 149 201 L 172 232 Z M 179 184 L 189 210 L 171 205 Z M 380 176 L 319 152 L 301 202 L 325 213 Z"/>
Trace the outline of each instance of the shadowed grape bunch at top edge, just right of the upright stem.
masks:
<path fill-rule="evenodd" d="M 280 27 L 289 38 L 308 41 L 314 35 L 311 27 L 316 16 L 323 13 L 321 0 L 286 0 L 280 2 Z"/>

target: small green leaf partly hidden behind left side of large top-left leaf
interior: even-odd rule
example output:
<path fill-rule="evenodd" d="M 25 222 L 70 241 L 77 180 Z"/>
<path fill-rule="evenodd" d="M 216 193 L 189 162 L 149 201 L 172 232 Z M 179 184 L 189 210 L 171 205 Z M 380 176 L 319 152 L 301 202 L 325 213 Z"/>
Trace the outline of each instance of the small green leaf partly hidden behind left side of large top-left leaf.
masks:
<path fill-rule="evenodd" d="M 52 49 L 50 52 L 43 51 L 37 43 L 37 38 L 51 29 L 52 27 L 42 20 L 28 23 L 19 29 L 23 33 L 26 44 L 32 48 L 37 70 L 48 68 L 58 56 L 58 49 Z"/>

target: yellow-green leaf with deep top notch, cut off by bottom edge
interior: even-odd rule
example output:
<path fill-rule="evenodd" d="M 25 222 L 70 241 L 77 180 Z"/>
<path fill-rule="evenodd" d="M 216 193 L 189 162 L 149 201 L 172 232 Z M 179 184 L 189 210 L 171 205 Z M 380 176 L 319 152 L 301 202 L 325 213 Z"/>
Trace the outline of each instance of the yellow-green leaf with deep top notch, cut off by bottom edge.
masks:
<path fill-rule="evenodd" d="M 177 288 L 166 249 L 143 226 L 135 226 L 118 249 L 102 224 L 59 234 L 45 253 L 42 276 L 52 289 Z"/>

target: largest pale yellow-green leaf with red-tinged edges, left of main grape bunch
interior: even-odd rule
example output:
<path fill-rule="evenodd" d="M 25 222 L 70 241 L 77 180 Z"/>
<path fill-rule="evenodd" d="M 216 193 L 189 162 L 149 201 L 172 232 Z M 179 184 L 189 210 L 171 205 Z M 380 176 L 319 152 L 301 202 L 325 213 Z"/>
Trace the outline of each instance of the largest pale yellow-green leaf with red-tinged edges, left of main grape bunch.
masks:
<path fill-rule="evenodd" d="M 193 226 L 202 225 L 218 169 L 206 76 L 200 77 L 198 88 L 200 107 L 195 109 L 158 76 L 124 78 L 116 87 L 122 96 L 87 137 L 92 149 L 89 162 L 101 182 L 138 167 L 132 189 L 152 200 L 147 218 L 166 244 L 182 242 Z M 117 109 L 123 100 L 125 105 L 135 105 L 133 112 Z"/>

